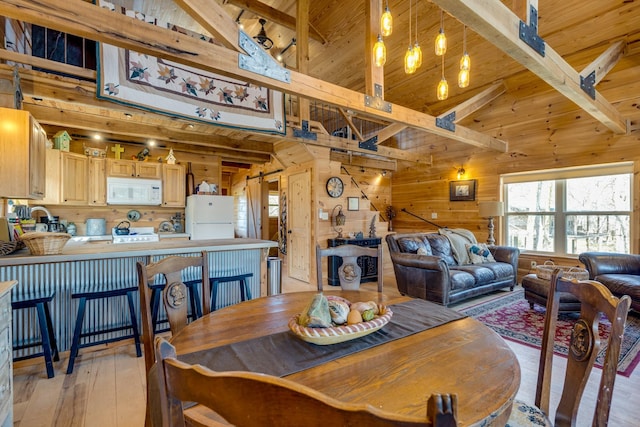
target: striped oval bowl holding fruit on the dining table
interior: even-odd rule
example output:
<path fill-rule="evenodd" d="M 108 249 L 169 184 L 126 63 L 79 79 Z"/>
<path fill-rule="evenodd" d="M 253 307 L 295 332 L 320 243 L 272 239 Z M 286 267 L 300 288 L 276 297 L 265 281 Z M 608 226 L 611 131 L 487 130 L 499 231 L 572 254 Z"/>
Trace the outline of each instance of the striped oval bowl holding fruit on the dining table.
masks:
<path fill-rule="evenodd" d="M 331 297 L 328 297 L 331 298 Z M 389 323 L 393 312 L 386 305 L 379 305 L 380 314 L 367 322 L 329 328 L 310 328 L 298 324 L 300 314 L 289 319 L 289 329 L 303 341 L 317 345 L 337 344 L 369 335 Z"/>

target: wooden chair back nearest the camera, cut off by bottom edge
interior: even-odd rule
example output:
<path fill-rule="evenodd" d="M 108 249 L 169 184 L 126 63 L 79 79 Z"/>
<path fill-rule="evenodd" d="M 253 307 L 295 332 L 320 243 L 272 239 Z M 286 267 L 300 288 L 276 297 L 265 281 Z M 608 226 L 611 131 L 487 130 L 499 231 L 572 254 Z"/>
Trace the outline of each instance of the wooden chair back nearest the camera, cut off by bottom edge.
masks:
<path fill-rule="evenodd" d="M 183 402 L 204 405 L 237 427 L 457 425 L 456 395 L 432 395 L 426 418 L 421 419 L 340 402 L 284 378 L 254 372 L 215 372 L 189 365 L 176 359 L 175 348 L 162 337 L 156 338 L 156 358 L 163 427 L 185 425 Z"/>

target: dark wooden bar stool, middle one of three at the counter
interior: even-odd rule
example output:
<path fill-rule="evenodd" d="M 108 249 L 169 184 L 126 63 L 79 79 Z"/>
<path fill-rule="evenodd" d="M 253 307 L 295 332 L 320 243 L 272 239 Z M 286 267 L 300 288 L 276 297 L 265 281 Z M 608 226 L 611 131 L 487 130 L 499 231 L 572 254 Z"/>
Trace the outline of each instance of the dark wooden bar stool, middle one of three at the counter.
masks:
<path fill-rule="evenodd" d="M 131 286 L 127 288 L 116 288 L 116 289 L 96 289 L 96 288 L 85 288 L 82 290 L 75 291 L 71 294 L 71 298 L 80 299 L 80 303 L 78 305 L 78 316 L 76 317 L 76 325 L 73 332 L 73 341 L 71 343 L 71 352 L 69 355 L 69 365 L 67 366 L 67 374 L 73 372 L 73 365 L 75 363 L 75 359 L 78 356 L 78 350 L 85 347 L 90 347 L 93 345 L 106 344 L 114 341 L 120 341 L 124 339 L 133 338 L 136 344 L 136 356 L 142 356 L 142 350 L 140 349 L 140 333 L 138 332 L 138 319 L 136 317 L 136 308 L 133 303 L 133 294 L 138 292 L 137 286 Z M 99 300 L 103 298 L 115 298 L 126 296 L 129 304 L 129 314 L 131 323 L 129 325 L 117 326 L 113 328 L 104 328 L 98 331 L 92 332 L 82 332 L 82 323 L 84 322 L 84 315 L 86 312 L 87 301 L 91 300 Z M 81 343 L 81 338 L 91 337 L 99 334 L 105 334 L 109 332 L 116 331 L 124 331 L 132 329 L 132 333 L 129 335 L 123 335 L 119 337 L 106 338 L 100 341 L 95 342 L 87 342 Z"/>

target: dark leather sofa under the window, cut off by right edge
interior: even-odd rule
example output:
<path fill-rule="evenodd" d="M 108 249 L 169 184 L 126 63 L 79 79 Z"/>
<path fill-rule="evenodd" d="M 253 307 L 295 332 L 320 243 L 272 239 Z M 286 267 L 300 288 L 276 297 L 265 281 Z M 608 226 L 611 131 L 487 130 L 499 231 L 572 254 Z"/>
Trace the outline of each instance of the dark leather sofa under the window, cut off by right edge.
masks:
<path fill-rule="evenodd" d="M 578 257 L 589 279 L 605 285 L 617 297 L 629 295 L 631 308 L 640 312 L 640 255 L 583 252 Z"/>

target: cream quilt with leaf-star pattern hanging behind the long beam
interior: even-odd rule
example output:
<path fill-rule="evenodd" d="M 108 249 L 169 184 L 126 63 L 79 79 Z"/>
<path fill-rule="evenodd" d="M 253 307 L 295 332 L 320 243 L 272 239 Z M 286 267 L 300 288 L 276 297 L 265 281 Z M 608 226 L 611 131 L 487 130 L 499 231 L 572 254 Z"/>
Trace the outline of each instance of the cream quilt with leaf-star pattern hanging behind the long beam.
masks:
<path fill-rule="evenodd" d="M 213 43 L 210 37 L 99 1 L 101 7 Z M 162 58 L 100 43 L 100 99 L 191 120 L 285 134 L 282 92 L 198 70 Z"/>

